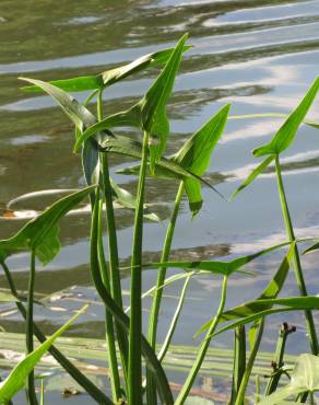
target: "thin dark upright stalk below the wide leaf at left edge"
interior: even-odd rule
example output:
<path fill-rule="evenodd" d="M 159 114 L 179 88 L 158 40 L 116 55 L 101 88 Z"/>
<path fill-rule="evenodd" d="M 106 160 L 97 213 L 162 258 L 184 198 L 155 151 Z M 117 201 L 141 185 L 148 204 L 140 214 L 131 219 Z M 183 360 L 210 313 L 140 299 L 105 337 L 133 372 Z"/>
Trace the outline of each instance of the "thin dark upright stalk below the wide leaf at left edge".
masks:
<path fill-rule="evenodd" d="M 27 290 L 27 304 L 26 304 L 26 352 L 29 354 L 34 350 L 33 345 L 33 301 L 34 301 L 34 280 L 35 280 L 35 251 L 31 252 L 31 264 L 29 264 L 29 277 L 28 277 L 28 290 Z M 35 393 L 34 383 L 34 371 L 28 374 L 27 378 L 27 390 L 26 390 L 27 403 L 29 405 L 37 405 L 37 397 Z"/>

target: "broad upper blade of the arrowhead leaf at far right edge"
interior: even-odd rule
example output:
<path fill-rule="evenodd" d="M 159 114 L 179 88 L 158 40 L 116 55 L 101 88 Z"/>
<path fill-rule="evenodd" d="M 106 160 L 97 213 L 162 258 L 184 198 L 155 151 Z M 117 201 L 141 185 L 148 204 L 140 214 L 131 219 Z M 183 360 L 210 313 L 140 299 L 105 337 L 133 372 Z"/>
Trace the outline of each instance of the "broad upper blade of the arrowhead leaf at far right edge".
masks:
<path fill-rule="evenodd" d="M 307 94 L 297 106 L 297 108 L 288 116 L 285 123 L 281 126 L 273 139 L 262 147 L 253 150 L 255 157 L 263 157 L 265 154 L 280 154 L 286 150 L 294 141 L 297 130 L 306 117 L 316 95 L 319 90 L 319 78 L 315 80 Z"/>

